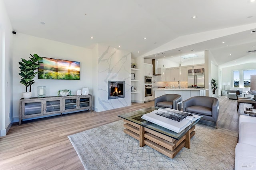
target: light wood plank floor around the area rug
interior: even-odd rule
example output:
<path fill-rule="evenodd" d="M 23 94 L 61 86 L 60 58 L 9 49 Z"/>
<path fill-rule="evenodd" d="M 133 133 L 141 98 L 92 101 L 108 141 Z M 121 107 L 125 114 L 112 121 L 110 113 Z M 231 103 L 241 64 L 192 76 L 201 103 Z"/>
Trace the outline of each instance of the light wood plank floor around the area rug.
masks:
<path fill-rule="evenodd" d="M 218 127 L 238 131 L 236 100 L 219 97 Z M 15 123 L 6 136 L 0 138 L 0 169 L 84 169 L 67 136 L 114 121 L 122 113 L 153 106 L 132 103 L 132 106 L 104 112 L 86 111 L 46 119 Z M 246 106 L 247 107 L 247 106 Z"/>

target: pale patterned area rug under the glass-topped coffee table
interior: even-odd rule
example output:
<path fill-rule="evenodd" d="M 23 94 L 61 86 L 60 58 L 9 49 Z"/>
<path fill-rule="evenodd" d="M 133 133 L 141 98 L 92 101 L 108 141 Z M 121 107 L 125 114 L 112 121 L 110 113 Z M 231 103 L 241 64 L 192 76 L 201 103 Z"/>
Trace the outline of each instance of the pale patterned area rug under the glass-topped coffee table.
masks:
<path fill-rule="evenodd" d="M 234 169 L 238 133 L 196 125 L 190 149 L 169 158 L 123 132 L 117 121 L 68 136 L 86 170 Z"/>

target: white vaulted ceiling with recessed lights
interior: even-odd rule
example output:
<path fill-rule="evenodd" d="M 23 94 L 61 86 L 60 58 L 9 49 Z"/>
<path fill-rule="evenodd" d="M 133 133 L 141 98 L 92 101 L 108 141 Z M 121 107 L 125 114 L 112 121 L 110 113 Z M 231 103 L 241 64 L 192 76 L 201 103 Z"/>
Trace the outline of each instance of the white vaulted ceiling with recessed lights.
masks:
<path fill-rule="evenodd" d="M 17 34 L 86 48 L 104 43 L 130 51 L 134 58 L 165 55 L 174 62 L 179 61 L 179 49 L 183 55 L 208 49 L 218 65 L 256 57 L 246 52 L 256 50 L 256 32 L 251 33 L 256 30 L 254 0 L 4 2 Z"/>

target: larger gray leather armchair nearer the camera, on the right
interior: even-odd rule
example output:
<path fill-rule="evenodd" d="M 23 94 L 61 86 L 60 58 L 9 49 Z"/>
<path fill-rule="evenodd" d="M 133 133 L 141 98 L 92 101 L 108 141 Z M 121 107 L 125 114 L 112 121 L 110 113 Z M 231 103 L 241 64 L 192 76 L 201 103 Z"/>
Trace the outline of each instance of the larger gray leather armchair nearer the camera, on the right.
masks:
<path fill-rule="evenodd" d="M 202 116 L 203 120 L 215 122 L 218 127 L 219 101 L 215 97 L 191 97 L 183 101 L 183 111 Z"/>

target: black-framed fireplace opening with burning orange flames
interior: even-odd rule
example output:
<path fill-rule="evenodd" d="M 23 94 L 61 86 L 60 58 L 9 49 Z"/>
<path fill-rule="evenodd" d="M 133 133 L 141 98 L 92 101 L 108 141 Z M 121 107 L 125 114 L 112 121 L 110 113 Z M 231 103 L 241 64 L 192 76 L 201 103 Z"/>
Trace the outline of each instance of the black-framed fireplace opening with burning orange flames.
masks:
<path fill-rule="evenodd" d="M 124 81 L 108 81 L 108 99 L 124 98 Z"/>

